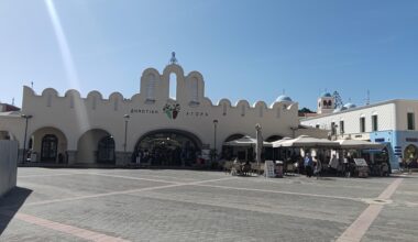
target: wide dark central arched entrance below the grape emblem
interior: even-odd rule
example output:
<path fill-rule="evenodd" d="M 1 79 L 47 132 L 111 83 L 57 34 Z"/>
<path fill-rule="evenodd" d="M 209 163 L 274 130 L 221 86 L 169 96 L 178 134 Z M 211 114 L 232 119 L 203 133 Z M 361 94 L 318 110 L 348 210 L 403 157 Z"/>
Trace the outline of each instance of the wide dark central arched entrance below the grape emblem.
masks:
<path fill-rule="evenodd" d="M 201 151 L 201 141 L 180 130 L 157 130 L 144 134 L 135 145 L 133 161 L 152 166 L 191 166 Z"/>

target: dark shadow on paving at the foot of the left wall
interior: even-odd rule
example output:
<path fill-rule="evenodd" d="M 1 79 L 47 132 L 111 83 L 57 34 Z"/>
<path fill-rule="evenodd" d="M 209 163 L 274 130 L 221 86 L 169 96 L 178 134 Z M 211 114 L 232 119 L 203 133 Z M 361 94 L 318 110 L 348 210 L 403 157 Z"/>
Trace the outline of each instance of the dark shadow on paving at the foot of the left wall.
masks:
<path fill-rule="evenodd" d="M 14 187 L 3 197 L 0 197 L 0 235 L 3 234 L 14 215 L 31 194 L 31 189 Z"/>

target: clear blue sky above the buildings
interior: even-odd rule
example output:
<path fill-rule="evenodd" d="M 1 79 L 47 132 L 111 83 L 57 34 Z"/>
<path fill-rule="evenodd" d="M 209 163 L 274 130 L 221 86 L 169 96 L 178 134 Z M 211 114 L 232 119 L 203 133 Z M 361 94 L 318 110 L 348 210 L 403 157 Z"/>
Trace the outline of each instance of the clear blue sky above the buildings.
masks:
<path fill-rule="evenodd" d="M 367 89 L 372 102 L 418 99 L 415 0 L 48 2 L 0 1 L 2 102 L 20 106 L 31 81 L 37 94 L 130 98 L 142 72 L 162 72 L 173 51 L 186 74 L 204 75 L 213 102 L 270 105 L 285 90 L 314 109 L 326 89 L 356 105 Z"/>

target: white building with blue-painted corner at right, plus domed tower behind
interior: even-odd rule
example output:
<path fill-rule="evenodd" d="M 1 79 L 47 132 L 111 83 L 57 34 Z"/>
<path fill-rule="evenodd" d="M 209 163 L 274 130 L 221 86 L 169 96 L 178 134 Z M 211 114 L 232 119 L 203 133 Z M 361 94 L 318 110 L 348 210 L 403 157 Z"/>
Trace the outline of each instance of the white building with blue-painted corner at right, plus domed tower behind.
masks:
<path fill-rule="evenodd" d="M 332 139 L 388 143 L 396 161 L 417 163 L 418 100 L 394 99 L 362 107 L 346 103 L 337 109 L 334 101 L 330 94 L 323 94 L 318 99 L 318 114 L 302 119 L 301 124 L 330 130 Z"/>

